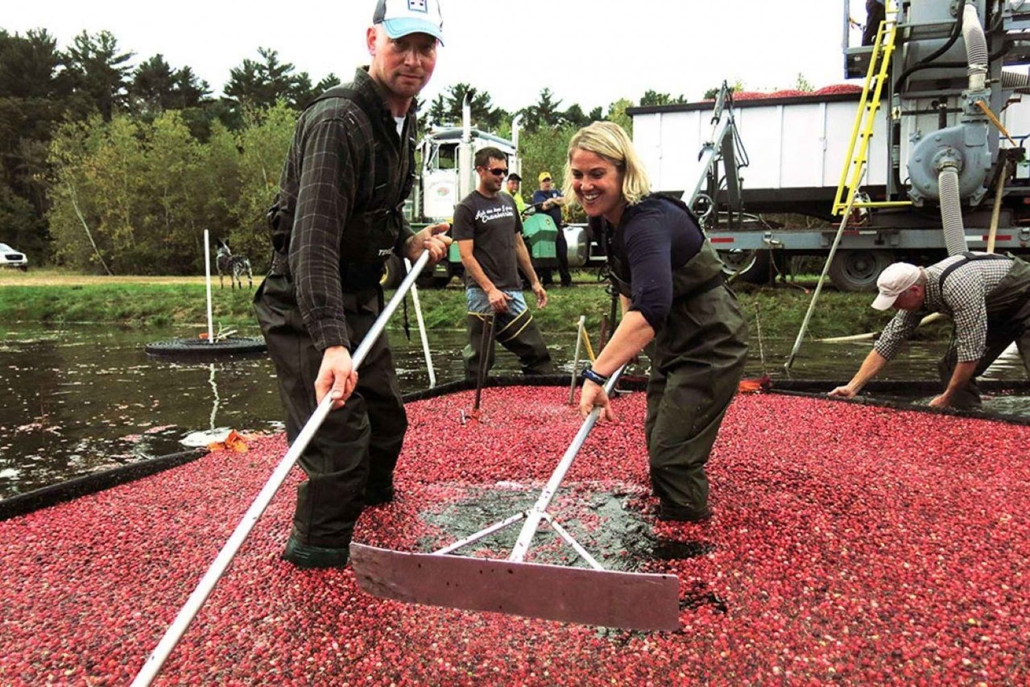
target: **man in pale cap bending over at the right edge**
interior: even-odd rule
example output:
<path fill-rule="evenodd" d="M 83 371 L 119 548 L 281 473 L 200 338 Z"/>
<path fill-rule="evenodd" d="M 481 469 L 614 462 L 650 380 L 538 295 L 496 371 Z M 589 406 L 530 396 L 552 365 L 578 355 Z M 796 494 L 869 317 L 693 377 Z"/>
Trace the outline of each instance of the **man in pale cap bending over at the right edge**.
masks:
<path fill-rule="evenodd" d="M 891 265 L 877 279 L 878 310 L 897 314 L 884 329 L 850 382 L 829 392 L 853 398 L 893 358 L 924 315 L 952 317 L 955 333 L 938 367 L 945 391 L 934 408 L 976 408 L 982 374 L 1014 341 L 1030 371 L 1030 265 L 1014 255 L 965 252 L 923 269 Z"/>

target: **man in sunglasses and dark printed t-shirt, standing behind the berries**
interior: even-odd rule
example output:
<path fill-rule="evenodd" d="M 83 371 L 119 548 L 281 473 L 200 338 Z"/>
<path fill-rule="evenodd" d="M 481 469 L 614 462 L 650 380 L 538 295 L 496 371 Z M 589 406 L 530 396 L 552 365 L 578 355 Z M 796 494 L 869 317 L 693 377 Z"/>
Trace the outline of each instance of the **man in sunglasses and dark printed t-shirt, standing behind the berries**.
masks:
<path fill-rule="evenodd" d="M 452 232 L 465 266 L 469 306 L 466 376 L 475 379 L 483 364 L 489 371 L 494 340 L 518 356 L 524 374 L 553 373 L 547 345 L 522 297 L 518 271 L 521 269 L 529 280 L 538 308 L 547 305 L 547 291 L 522 241 L 522 220 L 515 202 L 499 193 L 508 174 L 507 158 L 497 148 L 487 147 L 476 152 L 475 164 L 479 186 L 454 208 Z"/>

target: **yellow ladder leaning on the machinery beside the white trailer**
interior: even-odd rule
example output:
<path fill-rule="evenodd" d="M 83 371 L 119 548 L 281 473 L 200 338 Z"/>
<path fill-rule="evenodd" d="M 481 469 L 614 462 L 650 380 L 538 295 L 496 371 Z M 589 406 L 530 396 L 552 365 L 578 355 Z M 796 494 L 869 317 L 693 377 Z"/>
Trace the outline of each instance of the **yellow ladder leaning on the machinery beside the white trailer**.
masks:
<path fill-rule="evenodd" d="M 887 19 L 880 23 L 877 38 L 872 41 L 872 54 L 869 56 L 869 68 L 865 73 L 865 85 L 862 98 L 855 113 L 855 126 L 851 132 L 851 142 L 848 144 L 848 154 L 845 158 L 844 169 L 840 171 L 840 182 L 837 184 L 836 196 L 833 199 L 833 214 L 844 214 L 849 207 L 898 207 L 912 205 L 912 201 L 861 201 L 855 200 L 865 166 L 868 162 L 869 139 L 872 138 L 872 127 L 876 124 L 877 112 L 880 111 L 880 100 L 884 84 L 889 81 L 891 57 L 894 55 L 894 38 L 897 33 L 897 7 L 893 2 L 887 4 Z M 884 38 L 886 37 L 886 40 Z M 872 97 L 869 92 L 872 91 Z M 849 172 L 851 178 L 849 180 Z"/>

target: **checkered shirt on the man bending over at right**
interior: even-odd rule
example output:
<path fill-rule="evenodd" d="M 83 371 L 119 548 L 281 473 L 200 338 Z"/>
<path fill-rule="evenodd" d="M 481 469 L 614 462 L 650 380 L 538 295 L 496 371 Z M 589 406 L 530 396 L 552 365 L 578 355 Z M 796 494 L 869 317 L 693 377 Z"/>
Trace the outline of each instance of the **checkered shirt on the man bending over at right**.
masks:
<path fill-rule="evenodd" d="M 955 346 L 959 363 L 978 360 L 987 344 L 987 297 L 1012 267 L 1010 260 L 981 260 L 956 268 L 940 289 L 940 275 L 953 263 L 964 260 L 950 255 L 924 270 L 926 300 L 922 310 L 898 310 L 884 329 L 874 348 L 888 360 L 897 355 L 923 317 L 931 312 L 950 315 L 955 322 Z"/>

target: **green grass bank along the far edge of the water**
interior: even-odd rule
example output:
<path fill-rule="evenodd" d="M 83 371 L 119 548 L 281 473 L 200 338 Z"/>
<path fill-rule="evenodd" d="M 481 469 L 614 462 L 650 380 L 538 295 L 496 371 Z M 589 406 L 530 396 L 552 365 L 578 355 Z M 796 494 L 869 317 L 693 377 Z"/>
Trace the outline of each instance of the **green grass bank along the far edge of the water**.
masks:
<path fill-rule="evenodd" d="M 801 288 L 797 284 L 804 284 Z M 804 318 L 812 300 L 815 280 L 794 284 L 755 287 L 735 285 L 742 310 L 755 337 L 761 329 L 765 338 L 793 338 Z M 255 284 L 256 286 L 256 284 Z M 252 289 L 212 289 L 214 321 L 225 328 L 254 334 L 256 324 L 250 300 Z M 580 315 L 586 315 L 586 327 L 596 333 L 602 317 L 611 308 L 605 287 L 584 274 L 572 288 L 549 291 L 550 303 L 534 316 L 542 331 L 554 332 L 575 328 Z M 387 294 L 387 297 L 389 294 Z M 533 301 L 531 294 L 529 301 Z M 428 329 L 465 328 L 465 291 L 453 282 L 444 289 L 420 289 L 419 300 Z M 844 294 L 824 288 L 810 323 L 810 336 L 828 338 L 879 331 L 890 314 L 869 307 L 868 294 Z M 409 297 L 409 314 L 414 327 L 415 316 Z M 392 328 L 400 327 L 400 314 Z M 89 279 L 74 283 L 19 283 L 0 281 L 0 321 L 7 327 L 16 323 L 71 324 L 80 322 L 110 323 L 130 328 L 167 328 L 206 330 L 205 288 L 202 281 L 176 282 L 138 281 L 109 283 Z M 947 336 L 948 325 L 926 328 L 922 338 Z"/>

